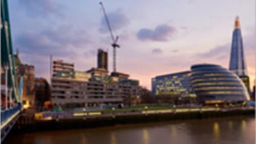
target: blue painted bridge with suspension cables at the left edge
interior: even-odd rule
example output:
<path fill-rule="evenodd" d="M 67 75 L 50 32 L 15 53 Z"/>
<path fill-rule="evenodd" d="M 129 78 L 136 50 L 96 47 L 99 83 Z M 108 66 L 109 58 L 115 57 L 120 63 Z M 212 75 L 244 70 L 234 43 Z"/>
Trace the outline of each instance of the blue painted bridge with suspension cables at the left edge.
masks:
<path fill-rule="evenodd" d="M 1 142 L 8 135 L 13 125 L 21 116 L 21 93 L 23 75 L 20 85 L 16 75 L 16 61 L 12 49 L 8 0 L 1 0 Z"/>

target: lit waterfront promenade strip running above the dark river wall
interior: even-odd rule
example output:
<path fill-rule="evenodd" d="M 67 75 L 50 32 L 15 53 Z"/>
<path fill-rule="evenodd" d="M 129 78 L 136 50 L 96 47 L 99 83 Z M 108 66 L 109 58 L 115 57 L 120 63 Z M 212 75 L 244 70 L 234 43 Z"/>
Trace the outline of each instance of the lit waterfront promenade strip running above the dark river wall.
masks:
<path fill-rule="evenodd" d="M 91 111 L 79 111 L 79 112 L 38 112 L 35 114 L 36 121 L 48 121 L 48 120 L 67 120 L 67 119 L 97 119 L 97 118 L 107 118 L 107 117 L 129 117 L 129 116 L 147 116 L 147 115 L 161 115 L 170 114 L 178 115 L 179 113 L 191 113 L 191 112 L 232 112 L 254 110 L 253 107 L 244 108 L 218 108 L 218 107 L 178 107 L 178 108 L 168 108 L 167 106 L 156 106 L 144 108 L 123 108 L 123 109 L 104 109 L 104 110 L 91 110 Z"/>

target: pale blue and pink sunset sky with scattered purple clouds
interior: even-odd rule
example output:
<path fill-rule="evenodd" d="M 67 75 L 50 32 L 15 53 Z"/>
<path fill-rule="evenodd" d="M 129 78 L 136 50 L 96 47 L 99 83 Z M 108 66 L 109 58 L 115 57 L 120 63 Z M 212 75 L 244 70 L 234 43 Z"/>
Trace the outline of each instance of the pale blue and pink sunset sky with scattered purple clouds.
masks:
<path fill-rule="evenodd" d="M 99 1 L 12 0 L 9 2 L 14 49 L 49 80 L 49 56 L 73 62 L 75 70 L 97 67 L 97 49 L 113 49 Z M 102 1 L 119 36 L 117 71 L 151 89 L 151 78 L 187 71 L 192 64 L 229 68 L 235 16 L 240 16 L 251 85 L 255 80 L 254 0 Z"/>

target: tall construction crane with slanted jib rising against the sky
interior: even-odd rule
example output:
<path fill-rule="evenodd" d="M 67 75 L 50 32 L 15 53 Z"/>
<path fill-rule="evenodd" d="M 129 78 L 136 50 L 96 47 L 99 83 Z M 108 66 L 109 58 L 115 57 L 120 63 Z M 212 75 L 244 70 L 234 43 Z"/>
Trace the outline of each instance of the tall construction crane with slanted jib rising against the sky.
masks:
<path fill-rule="evenodd" d="M 108 30 L 110 32 L 110 37 L 113 40 L 113 43 L 111 44 L 111 46 L 113 47 L 113 72 L 116 72 L 117 71 L 117 67 L 116 67 L 116 54 L 117 54 L 117 48 L 120 48 L 120 45 L 117 44 L 118 36 L 115 37 L 113 32 L 112 32 L 112 29 L 110 27 L 110 23 L 108 21 L 108 16 L 106 16 L 106 10 L 104 8 L 103 3 L 100 2 L 100 5 L 102 5 L 102 10 L 103 10 L 103 13 L 104 13 L 106 24 L 107 24 Z"/>

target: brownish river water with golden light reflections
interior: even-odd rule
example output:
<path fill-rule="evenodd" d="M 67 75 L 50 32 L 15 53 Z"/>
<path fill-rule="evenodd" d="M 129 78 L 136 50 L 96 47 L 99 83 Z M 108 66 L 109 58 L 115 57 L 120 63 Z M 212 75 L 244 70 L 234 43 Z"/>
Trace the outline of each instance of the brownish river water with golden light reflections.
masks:
<path fill-rule="evenodd" d="M 4 144 L 254 144 L 255 117 L 116 125 L 10 134 Z"/>

